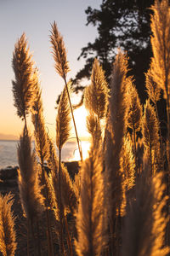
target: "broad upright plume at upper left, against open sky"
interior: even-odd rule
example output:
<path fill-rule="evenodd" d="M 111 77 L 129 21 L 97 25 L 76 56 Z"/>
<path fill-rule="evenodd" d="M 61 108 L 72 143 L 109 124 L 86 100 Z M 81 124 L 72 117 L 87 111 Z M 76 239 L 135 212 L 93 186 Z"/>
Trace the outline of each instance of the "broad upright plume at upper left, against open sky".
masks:
<path fill-rule="evenodd" d="M 21 119 L 25 119 L 31 108 L 33 100 L 32 91 L 32 72 L 33 61 L 27 47 L 26 35 L 22 34 L 14 46 L 12 67 L 14 69 L 15 80 L 13 84 L 14 107 L 17 108 L 17 114 Z"/>

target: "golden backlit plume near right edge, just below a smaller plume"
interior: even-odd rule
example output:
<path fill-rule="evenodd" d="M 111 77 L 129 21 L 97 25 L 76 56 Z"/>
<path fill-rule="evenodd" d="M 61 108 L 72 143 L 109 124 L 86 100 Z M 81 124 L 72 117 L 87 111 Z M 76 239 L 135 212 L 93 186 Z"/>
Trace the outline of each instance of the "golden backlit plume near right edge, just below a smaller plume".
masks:
<path fill-rule="evenodd" d="M 150 100 L 147 100 L 144 105 L 144 117 L 142 123 L 142 133 L 144 147 L 148 151 L 150 158 L 150 175 L 156 171 L 156 163 L 160 165 L 160 137 L 159 137 L 159 122 L 156 118 L 155 108 L 150 105 Z"/>

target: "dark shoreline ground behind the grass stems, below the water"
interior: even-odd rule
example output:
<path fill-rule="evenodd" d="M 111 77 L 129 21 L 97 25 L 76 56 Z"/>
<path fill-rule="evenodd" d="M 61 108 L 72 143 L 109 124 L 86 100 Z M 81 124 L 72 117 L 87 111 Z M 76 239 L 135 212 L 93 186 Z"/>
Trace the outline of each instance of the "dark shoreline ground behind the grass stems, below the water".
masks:
<path fill-rule="evenodd" d="M 79 169 L 79 162 L 65 162 L 65 166 L 67 166 L 68 172 L 71 178 L 74 178 L 75 174 L 78 172 Z M 0 193 L 2 195 L 8 194 L 9 192 L 14 195 L 14 204 L 13 204 L 13 212 L 15 217 L 15 230 L 16 230 L 16 240 L 18 243 L 17 250 L 15 255 L 23 256 L 26 255 L 26 218 L 23 216 L 23 211 L 20 205 L 20 194 L 18 189 L 18 166 L 8 166 L 5 169 L 0 170 Z M 47 172 L 48 167 L 46 168 Z M 51 219 L 53 221 L 53 214 L 51 212 Z M 44 235 L 46 230 L 44 230 L 44 221 L 45 218 L 42 220 L 42 225 L 40 224 L 40 233 L 41 235 L 41 246 L 42 246 L 42 256 L 47 255 L 47 239 Z M 56 234 L 54 231 L 54 251 L 55 253 L 58 252 L 59 245 L 56 239 Z M 30 255 L 34 255 L 33 253 L 33 246 L 30 247 Z"/>

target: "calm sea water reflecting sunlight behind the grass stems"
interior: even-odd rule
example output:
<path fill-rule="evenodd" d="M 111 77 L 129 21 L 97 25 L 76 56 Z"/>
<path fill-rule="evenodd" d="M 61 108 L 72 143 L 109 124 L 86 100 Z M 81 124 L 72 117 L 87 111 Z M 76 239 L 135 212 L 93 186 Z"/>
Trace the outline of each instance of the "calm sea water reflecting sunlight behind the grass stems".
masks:
<path fill-rule="evenodd" d="M 1 141 L 0 140 L 0 169 L 7 166 L 18 166 L 17 160 L 17 144 L 18 141 Z M 87 157 L 90 143 L 82 142 L 82 155 L 83 158 Z M 34 143 L 32 142 L 32 148 Z M 62 161 L 80 160 L 77 143 L 68 142 L 65 143 L 62 154 Z"/>

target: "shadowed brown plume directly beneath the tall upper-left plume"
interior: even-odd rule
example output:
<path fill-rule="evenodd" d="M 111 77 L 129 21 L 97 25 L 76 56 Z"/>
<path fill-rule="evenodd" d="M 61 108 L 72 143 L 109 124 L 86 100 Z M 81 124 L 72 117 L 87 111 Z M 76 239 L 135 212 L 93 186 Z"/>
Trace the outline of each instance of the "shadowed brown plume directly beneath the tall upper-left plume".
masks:
<path fill-rule="evenodd" d="M 20 136 L 18 145 L 19 172 L 18 183 L 20 200 L 26 218 L 31 224 L 43 211 L 44 198 L 41 195 L 41 187 L 38 181 L 35 155 L 31 153 L 31 137 L 26 129 Z"/>

